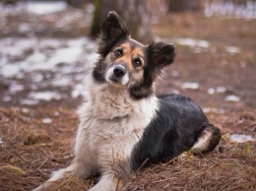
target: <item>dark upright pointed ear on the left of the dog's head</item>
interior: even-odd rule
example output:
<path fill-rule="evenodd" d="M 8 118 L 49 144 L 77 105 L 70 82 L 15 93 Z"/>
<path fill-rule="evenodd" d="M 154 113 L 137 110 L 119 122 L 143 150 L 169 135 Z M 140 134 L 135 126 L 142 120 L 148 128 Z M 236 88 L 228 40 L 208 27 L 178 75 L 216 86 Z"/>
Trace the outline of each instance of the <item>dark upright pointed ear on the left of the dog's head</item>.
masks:
<path fill-rule="evenodd" d="M 127 38 L 129 35 L 130 32 L 125 22 L 115 11 L 109 12 L 107 18 L 101 24 L 101 32 L 98 37 L 98 53 L 105 56 L 118 40 Z"/>

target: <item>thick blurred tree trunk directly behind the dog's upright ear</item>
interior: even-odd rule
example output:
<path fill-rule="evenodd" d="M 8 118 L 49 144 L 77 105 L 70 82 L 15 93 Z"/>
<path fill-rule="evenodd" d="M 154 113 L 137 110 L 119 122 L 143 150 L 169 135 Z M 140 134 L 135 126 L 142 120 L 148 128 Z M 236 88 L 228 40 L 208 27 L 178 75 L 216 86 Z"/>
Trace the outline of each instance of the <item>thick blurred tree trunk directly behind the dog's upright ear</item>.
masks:
<path fill-rule="evenodd" d="M 133 38 L 143 42 L 149 42 L 152 39 L 151 15 L 147 0 L 95 0 L 92 35 L 96 36 L 99 32 L 100 24 L 109 11 L 116 11 L 126 21 Z"/>

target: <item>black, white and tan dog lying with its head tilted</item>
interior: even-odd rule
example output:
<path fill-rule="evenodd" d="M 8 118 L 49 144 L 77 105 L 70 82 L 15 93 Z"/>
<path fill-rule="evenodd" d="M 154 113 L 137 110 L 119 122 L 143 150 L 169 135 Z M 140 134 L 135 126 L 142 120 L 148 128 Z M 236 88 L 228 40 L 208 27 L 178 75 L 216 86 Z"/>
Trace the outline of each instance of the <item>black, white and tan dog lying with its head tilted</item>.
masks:
<path fill-rule="evenodd" d="M 221 139 L 201 107 L 181 95 L 156 96 L 154 83 L 174 61 L 175 47 L 164 42 L 143 45 L 109 12 L 98 37 L 99 58 L 86 80 L 87 96 L 78 110 L 80 126 L 75 159 L 37 187 L 75 176 L 100 179 L 90 191 L 127 188 L 135 172 L 190 151 L 209 152 Z"/>

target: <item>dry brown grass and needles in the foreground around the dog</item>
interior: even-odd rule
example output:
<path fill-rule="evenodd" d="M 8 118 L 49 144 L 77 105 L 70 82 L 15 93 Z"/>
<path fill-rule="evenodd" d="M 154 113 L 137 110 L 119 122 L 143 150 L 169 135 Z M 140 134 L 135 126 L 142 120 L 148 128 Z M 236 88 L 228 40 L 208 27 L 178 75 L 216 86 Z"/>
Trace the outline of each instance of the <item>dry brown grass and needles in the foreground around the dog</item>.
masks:
<path fill-rule="evenodd" d="M 49 117 L 52 123 L 43 124 Z M 206 156 L 183 154 L 168 163 L 150 166 L 137 174 L 129 190 L 255 190 L 256 143 L 230 143 L 230 132 L 255 133 L 253 113 L 210 113 L 223 132 L 218 148 Z M 242 122 L 241 122 L 242 120 Z M 240 121 L 239 123 L 237 121 Z M 0 107 L 0 190 L 31 190 L 50 172 L 71 159 L 78 125 L 74 111 L 62 108 Z M 252 132 L 253 133 L 253 132 Z M 53 190 L 87 190 L 96 182 L 70 178 Z"/>

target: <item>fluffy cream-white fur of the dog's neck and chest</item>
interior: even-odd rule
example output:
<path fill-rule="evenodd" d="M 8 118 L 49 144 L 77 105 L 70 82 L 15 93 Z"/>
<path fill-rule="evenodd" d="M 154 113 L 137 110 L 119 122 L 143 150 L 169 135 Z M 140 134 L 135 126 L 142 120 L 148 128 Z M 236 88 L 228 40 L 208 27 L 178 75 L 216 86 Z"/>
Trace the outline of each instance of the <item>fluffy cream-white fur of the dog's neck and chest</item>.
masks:
<path fill-rule="evenodd" d="M 134 101 L 127 94 L 103 88 L 92 91 L 89 97 L 79 110 L 76 155 L 83 153 L 100 165 L 129 159 L 155 116 L 158 100 L 153 96 Z"/>

